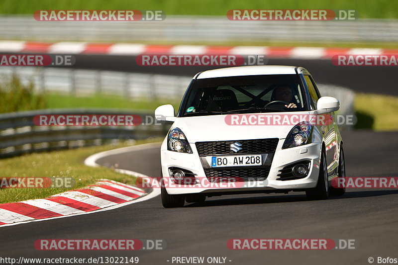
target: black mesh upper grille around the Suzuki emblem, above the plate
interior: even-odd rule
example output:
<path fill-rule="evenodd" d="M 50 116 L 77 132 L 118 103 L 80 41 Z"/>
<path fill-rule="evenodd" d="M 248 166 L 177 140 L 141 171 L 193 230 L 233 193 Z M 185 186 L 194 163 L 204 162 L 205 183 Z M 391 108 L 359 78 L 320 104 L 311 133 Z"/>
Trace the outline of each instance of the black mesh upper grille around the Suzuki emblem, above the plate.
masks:
<path fill-rule="evenodd" d="M 214 156 L 227 154 L 264 154 L 275 153 L 278 145 L 278 138 L 253 139 L 253 140 L 235 140 L 235 141 L 214 141 L 197 142 L 199 156 Z M 234 152 L 231 150 L 231 144 L 239 142 L 242 144 L 242 150 Z"/>

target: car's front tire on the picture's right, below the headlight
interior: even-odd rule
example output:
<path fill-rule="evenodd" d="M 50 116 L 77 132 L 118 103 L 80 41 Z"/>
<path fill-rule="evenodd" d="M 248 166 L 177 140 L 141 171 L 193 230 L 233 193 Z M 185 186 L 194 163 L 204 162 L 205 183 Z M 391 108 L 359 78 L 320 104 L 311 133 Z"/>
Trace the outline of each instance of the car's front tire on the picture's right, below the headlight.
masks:
<path fill-rule="evenodd" d="M 309 199 L 324 200 L 329 196 L 329 181 L 327 178 L 327 166 L 326 166 L 326 153 L 322 147 L 322 153 L 319 163 L 319 176 L 316 187 L 308 189 L 305 194 Z"/>

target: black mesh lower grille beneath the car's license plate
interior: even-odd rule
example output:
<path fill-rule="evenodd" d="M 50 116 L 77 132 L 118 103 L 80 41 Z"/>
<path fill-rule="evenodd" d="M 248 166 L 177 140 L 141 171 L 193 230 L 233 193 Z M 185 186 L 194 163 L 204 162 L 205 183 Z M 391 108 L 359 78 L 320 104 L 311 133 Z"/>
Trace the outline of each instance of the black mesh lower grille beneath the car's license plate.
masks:
<path fill-rule="evenodd" d="M 210 182 L 262 181 L 268 177 L 270 168 L 206 169 L 204 173 Z"/>

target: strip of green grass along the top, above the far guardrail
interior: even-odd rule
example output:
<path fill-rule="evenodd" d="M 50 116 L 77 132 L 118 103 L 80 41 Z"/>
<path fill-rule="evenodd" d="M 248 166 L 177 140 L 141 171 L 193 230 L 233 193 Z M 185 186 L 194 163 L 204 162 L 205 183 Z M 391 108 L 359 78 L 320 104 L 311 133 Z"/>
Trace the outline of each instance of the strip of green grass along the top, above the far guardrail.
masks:
<path fill-rule="evenodd" d="M 225 15 L 229 9 L 355 9 L 360 18 L 398 18 L 397 0 L 2 0 L 0 3 L 3 14 L 32 14 L 39 9 L 155 9 L 164 10 L 166 15 Z"/>

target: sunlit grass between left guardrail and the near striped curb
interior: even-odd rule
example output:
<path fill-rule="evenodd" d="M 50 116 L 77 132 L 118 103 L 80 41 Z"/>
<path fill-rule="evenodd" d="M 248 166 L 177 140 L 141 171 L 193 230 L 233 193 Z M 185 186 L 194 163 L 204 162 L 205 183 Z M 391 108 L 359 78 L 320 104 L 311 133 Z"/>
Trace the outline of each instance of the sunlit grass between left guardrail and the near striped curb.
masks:
<path fill-rule="evenodd" d="M 137 141 L 136 144 L 159 140 Z M 131 144 L 123 143 L 84 147 L 2 159 L 0 160 L 1 177 L 72 177 L 75 180 L 75 186 L 73 188 L 0 188 L 0 203 L 45 198 L 93 184 L 99 178 L 134 184 L 135 177 L 116 173 L 110 168 L 92 168 L 83 164 L 84 160 L 92 154 L 129 145 Z M 113 165 L 113 167 L 117 168 L 118 165 Z"/>

